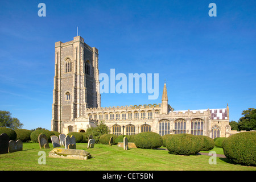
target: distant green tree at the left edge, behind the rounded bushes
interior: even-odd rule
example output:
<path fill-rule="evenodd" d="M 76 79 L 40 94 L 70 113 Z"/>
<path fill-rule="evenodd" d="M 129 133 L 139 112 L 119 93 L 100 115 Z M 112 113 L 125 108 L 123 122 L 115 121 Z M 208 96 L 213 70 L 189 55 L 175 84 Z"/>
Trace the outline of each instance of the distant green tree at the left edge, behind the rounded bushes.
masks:
<path fill-rule="evenodd" d="M 19 119 L 11 117 L 9 111 L 0 110 L 0 127 L 9 127 L 10 129 L 22 129 L 23 124 Z"/>

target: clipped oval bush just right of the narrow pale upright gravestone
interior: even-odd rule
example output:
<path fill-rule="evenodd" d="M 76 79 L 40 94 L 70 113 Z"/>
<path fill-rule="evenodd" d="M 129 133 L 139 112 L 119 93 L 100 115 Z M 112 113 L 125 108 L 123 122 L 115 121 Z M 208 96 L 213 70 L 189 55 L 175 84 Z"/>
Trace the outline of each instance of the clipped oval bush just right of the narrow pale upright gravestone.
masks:
<path fill-rule="evenodd" d="M 158 133 L 147 131 L 137 134 L 134 144 L 138 148 L 158 148 L 163 145 L 163 139 Z"/>

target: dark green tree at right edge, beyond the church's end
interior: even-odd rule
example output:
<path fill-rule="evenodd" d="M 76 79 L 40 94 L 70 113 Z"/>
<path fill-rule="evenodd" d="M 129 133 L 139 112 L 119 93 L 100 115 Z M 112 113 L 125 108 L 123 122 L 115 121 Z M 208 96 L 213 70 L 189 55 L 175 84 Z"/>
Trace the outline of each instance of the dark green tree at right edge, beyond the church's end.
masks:
<path fill-rule="evenodd" d="M 239 130 L 256 130 L 256 109 L 249 108 L 242 112 L 243 117 L 238 121 Z"/>

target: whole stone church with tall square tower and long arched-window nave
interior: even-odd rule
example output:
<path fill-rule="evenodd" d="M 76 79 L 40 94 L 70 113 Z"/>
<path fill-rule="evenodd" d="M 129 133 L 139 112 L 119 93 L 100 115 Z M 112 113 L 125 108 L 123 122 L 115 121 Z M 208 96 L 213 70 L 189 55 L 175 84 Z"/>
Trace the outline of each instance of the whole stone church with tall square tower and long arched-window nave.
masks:
<path fill-rule="evenodd" d="M 229 106 L 221 109 L 173 110 L 163 85 L 162 103 L 101 107 L 98 49 L 81 36 L 55 43 L 51 130 L 84 133 L 104 122 L 115 135 L 145 131 L 229 137 Z"/>

